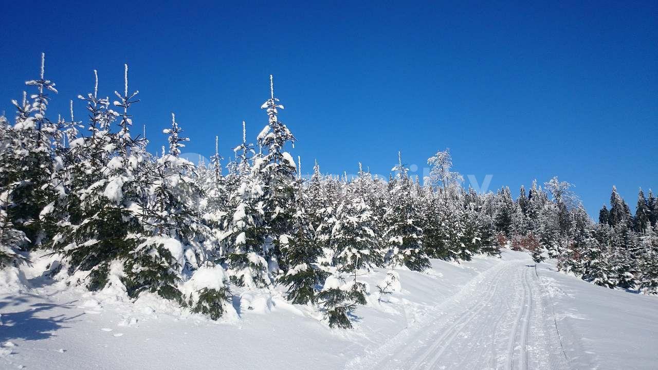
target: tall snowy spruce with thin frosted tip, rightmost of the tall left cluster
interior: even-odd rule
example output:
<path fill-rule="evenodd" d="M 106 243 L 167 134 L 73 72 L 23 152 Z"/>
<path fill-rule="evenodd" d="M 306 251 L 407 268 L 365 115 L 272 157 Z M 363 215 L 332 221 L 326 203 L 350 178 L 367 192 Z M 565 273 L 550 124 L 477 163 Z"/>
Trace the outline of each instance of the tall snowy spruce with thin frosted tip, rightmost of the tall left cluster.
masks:
<path fill-rule="evenodd" d="M 114 269 L 115 262 L 122 265 L 130 257 L 142 231 L 136 205 L 145 203 L 148 183 L 143 145 L 130 137 L 132 119 L 128 110 L 139 100 L 134 99 L 138 92 L 128 95 L 128 65 L 124 82 L 124 94 L 115 92 L 119 100 L 114 101 L 114 106 L 123 108 L 120 130 L 99 135 L 105 143 L 101 149 L 105 153 L 100 156 L 107 156 L 109 161 L 93 169 L 99 180 L 78 192 L 78 222 L 64 226 L 55 237 L 55 246 L 68 260 L 70 272 L 89 271 L 89 290 L 107 284 L 111 267 Z M 108 122 L 115 114 L 109 112 Z"/>

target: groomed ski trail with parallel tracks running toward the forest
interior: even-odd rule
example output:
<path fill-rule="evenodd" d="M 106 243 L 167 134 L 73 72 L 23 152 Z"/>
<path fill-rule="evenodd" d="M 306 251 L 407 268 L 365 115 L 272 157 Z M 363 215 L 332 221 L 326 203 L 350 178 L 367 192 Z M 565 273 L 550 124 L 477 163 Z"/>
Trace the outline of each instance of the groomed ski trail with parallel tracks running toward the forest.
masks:
<path fill-rule="evenodd" d="M 527 259 L 501 261 L 380 348 L 366 369 L 567 370 L 549 297 Z"/>

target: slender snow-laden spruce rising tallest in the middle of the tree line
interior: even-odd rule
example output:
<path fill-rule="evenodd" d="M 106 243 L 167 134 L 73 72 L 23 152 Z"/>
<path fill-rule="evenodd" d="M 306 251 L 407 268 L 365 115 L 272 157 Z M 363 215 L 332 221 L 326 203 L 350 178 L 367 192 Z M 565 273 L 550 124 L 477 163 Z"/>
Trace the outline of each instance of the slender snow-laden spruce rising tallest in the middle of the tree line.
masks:
<path fill-rule="evenodd" d="M 262 208 L 267 234 L 265 257 L 271 273 L 279 269 L 286 271 L 285 257 L 279 247 L 279 238 L 291 229 L 291 215 L 295 204 L 295 173 L 297 167 L 291 155 L 285 151 L 288 142 L 295 137 L 288 127 L 278 119 L 278 109 L 283 109 L 279 99 L 274 97 L 274 84 L 270 75 L 270 99 L 261 106 L 266 109 L 268 124 L 258 135 L 258 144 L 266 151 L 254 160 L 253 173 L 263 185 Z"/>

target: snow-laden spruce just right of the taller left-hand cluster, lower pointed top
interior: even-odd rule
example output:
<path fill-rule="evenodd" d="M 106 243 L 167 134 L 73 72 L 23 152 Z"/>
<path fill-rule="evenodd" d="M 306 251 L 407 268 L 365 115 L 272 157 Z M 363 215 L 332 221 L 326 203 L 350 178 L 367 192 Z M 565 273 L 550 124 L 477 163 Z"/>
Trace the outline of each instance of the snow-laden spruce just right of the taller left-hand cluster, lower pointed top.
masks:
<path fill-rule="evenodd" d="M 201 243 L 209 231 L 199 222 L 195 206 L 201 190 L 188 176 L 194 166 L 179 157 L 182 143 L 189 139 L 179 136 L 182 130 L 173 113 L 171 128 L 163 132 L 168 134 L 169 154 L 148 168 L 149 196 L 138 201 L 143 232 L 128 252 L 124 284 L 131 297 L 148 290 L 183 303 L 177 284 L 184 269 L 196 269 L 204 260 Z"/>

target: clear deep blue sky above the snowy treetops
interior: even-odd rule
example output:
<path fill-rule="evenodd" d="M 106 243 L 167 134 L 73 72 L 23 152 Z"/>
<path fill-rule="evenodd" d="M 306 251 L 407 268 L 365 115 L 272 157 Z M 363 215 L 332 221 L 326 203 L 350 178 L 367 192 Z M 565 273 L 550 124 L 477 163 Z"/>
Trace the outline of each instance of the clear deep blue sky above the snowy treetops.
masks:
<path fill-rule="evenodd" d="M 227 157 L 241 120 L 250 138 L 266 124 L 271 73 L 305 171 L 316 158 L 388 174 L 398 150 L 422 168 L 449 147 L 457 171 L 493 175 L 491 190 L 558 175 L 591 215 L 613 184 L 633 208 L 638 187 L 658 188 L 656 1 L 207 3 L 5 2 L 0 110 L 11 117 L 41 51 L 53 117 L 94 68 L 101 94 L 122 90 L 128 63 L 134 131 L 147 125 L 153 151 L 174 111 L 188 152 L 211 155 L 218 134 Z"/>

